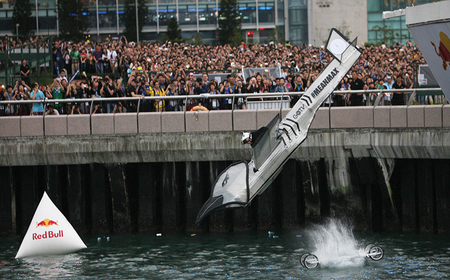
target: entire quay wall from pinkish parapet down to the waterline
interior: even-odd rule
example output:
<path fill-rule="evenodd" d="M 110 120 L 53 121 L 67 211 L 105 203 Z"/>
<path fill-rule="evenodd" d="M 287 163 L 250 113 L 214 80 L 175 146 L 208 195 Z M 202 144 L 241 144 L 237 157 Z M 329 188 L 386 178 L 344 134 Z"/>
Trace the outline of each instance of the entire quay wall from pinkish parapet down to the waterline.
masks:
<path fill-rule="evenodd" d="M 242 130 L 278 112 L 0 118 L 0 233 L 24 233 L 44 190 L 80 232 L 297 230 L 332 215 L 450 232 L 448 105 L 320 108 L 266 191 L 195 225 L 216 176 L 251 158 Z"/>

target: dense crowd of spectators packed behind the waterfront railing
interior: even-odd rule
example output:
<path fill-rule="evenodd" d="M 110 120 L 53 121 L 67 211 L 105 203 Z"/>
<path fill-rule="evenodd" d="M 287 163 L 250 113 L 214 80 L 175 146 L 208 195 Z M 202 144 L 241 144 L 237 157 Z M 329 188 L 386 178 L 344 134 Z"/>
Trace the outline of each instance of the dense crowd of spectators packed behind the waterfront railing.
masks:
<path fill-rule="evenodd" d="M 326 106 L 373 104 L 376 94 L 348 94 L 349 89 L 412 88 L 413 62 L 424 62 L 413 42 L 392 46 L 360 46 L 362 55 L 336 87 L 342 93 L 325 100 Z M 63 99 L 90 97 L 144 97 L 209 93 L 208 98 L 143 99 L 140 111 L 244 109 L 246 101 L 260 98 L 211 98 L 211 94 L 305 91 L 332 57 L 311 45 L 268 44 L 190 45 L 177 42 L 129 42 L 125 37 L 104 42 L 53 42 L 54 75 L 51 84 L 31 83 L 23 75 L 1 91 L 2 100 Z M 25 67 L 26 61 L 22 61 Z M 242 78 L 241 68 L 266 68 Z M 269 68 L 280 68 L 273 77 Z M 56 70 L 58 69 L 58 71 Z M 70 82 L 67 76 L 79 74 Z M 227 72 L 226 79 L 210 73 Z M 57 73 L 59 72 L 59 76 Z M 32 74 L 31 74 L 32 76 Z M 1 88 L 0 88 L 1 89 Z M 291 97 L 291 104 L 297 100 Z M 407 95 L 386 92 L 381 104 L 404 104 Z M 370 103 L 371 102 L 371 103 Z M 93 113 L 135 111 L 137 102 L 97 102 Z M 88 113 L 88 102 L 55 103 L 48 113 Z M 184 108 L 185 106 L 185 108 Z M 3 105 L 3 114 L 41 114 L 43 107 Z"/>

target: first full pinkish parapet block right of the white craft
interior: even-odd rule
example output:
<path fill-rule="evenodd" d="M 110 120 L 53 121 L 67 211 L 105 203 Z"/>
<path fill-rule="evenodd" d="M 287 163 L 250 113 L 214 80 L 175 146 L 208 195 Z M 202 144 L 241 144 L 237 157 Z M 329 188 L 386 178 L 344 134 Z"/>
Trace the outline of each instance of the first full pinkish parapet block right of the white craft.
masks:
<path fill-rule="evenodd" d="M 330 128 L 373 127 L 373 107 L 331 107 Z"/>

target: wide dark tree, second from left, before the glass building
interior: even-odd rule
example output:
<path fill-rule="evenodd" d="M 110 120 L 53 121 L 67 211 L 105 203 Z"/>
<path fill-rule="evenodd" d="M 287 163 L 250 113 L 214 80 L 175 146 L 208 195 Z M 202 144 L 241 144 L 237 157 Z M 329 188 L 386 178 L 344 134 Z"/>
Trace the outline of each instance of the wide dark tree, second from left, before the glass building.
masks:
<path fill-rule="evenodd" d="M 87 8 L 82 0 L 58 1 L 59 31 L 61 37 L 79 40 L 87 32 Z"/>

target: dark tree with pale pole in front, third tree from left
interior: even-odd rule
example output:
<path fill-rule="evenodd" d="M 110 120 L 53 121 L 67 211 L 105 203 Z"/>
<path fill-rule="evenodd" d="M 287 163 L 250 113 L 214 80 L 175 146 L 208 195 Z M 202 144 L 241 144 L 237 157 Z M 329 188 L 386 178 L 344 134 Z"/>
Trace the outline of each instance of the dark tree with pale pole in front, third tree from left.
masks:
<path fill-rule="evenodd" d="M 136 37 L 136 1 L 125 0 L 123 3 L 123 23 L 125 25 L 124 34 L 128 41 L 137 40 Z M 147 7 L 145 0 L 137 0 L 137 18 L 139 28 L 139 39 L 142 35 L 142 27 L 147 17 Z"/>

